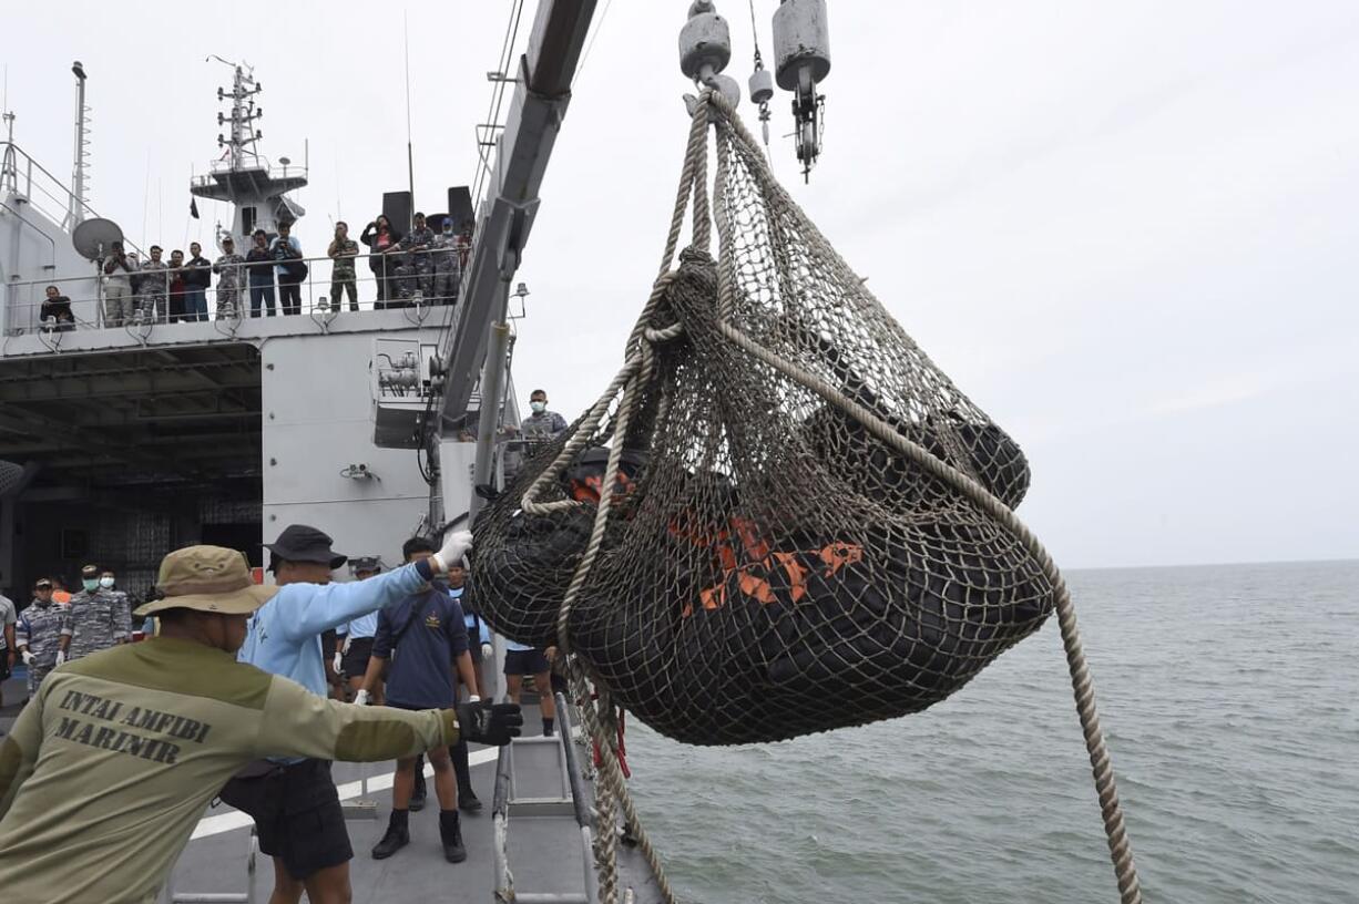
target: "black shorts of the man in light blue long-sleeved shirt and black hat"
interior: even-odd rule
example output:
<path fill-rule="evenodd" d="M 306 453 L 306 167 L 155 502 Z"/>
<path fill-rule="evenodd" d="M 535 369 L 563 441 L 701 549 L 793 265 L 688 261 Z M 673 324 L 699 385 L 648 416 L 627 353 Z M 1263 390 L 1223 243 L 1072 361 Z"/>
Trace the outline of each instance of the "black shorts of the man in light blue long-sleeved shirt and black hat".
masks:
<path fill-rule="evenodd" d="M 303 760 L 255 778 L 232 778 L 220 797 L 254 818 L 260 850 L 283 859 L 299 882 L 353 859 L 329 760 Z"/>

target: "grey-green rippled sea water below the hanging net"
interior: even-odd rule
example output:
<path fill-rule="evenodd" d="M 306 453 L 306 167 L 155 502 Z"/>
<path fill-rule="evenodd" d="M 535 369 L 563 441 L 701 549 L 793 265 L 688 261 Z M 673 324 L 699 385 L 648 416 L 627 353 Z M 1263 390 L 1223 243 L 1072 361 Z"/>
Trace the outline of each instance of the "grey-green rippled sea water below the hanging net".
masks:
<path fill-rule="evenodd" d="M 1359 562 L 1067 578 L 1146 900 L 1359 901 Z M 921 714 L 628 751 L 686 901 L 1118 900 L 1056 618 Z"/>

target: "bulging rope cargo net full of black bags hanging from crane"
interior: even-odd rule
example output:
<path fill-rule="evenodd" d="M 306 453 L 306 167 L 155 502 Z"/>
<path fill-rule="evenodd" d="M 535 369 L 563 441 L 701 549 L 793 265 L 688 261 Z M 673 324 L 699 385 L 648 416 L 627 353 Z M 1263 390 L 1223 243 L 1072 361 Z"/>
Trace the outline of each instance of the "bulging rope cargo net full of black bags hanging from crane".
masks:
<path fill-rule="evenodd" d="M 515 641 L 559 643 L 617 447 L 560 626 L 616 703 L 692 744 L 916 713 L 1036 631 L 1053 586 L 1007 527 L 817 387 L 1006 506 L 1027 463 L 713 119 L 720 259 L 696 174 L 694 242 L 647 305 L 626 383 L 478 520 L 477 599 Z"/>

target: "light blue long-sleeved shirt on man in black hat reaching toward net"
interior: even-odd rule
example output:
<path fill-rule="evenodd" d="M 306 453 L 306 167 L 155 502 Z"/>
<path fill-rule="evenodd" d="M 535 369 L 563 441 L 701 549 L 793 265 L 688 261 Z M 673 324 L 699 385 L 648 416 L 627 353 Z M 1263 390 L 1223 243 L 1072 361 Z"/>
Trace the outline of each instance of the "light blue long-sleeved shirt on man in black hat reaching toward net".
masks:
<path fill-rule="evenodd" d="M 326 696 L 321 633 L 410 596 L 424 582 L 414 565 L 404 565 L 367 581 L 288 584 L 250 616 L 236 658 Z"/>

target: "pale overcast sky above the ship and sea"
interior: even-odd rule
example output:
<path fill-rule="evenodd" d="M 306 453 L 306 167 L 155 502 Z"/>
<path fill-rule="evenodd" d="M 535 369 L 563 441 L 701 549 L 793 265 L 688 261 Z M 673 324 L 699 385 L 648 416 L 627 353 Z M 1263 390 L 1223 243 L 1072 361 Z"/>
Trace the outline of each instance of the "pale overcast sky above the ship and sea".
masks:
<path fill-rule="evenodd" d="M 766 57 L 775 5 L 756 3 Z M 1021 514 L 1057 561 L 1355 557 L 1359 4 L 829 5 L 825 155 L 803 186 L 776 137 L 775 168 L 1025 447 Z M 405 12 L 416 204 L 439 210 L 470 182 L 508 1 L 215 8 L 12 4 L 18 143 L 69 171 L 82 60 L 94 206 L 143 244 L 207 243 L 230 216 L 207 204 L 189 220 L 188 182 L 216 155 L 230 72 L 204 57 L 245 58 L 265 87 L 264 152 L 302 160 L 310 140 L 298 233 L 321 254 L 332 217 L 361 227 L 406 185 Z M 597 11 L 549 167 L 515 377 L 568 419 L 617 369 L 659 259 L 686 8 Z M 749 11 L 719 11 L 743 86 Z M 773 109 L 781 136 L 787 95 Z"/>

